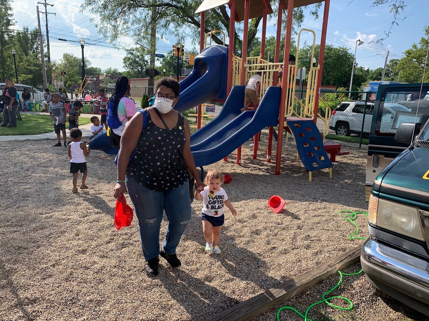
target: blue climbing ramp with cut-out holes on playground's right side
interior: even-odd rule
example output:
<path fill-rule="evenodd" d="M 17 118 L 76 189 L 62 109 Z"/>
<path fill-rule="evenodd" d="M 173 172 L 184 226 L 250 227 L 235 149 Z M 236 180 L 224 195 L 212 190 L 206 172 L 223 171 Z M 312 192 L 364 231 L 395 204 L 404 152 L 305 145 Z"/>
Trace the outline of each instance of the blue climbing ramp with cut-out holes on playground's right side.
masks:
<path fill-rule="evenodd" d="M 309 172 L 333 167 L 323 147 L 322 135 L 312 120 L 296 119 L 287 121 L 295 137 L 299 158 Z"/>

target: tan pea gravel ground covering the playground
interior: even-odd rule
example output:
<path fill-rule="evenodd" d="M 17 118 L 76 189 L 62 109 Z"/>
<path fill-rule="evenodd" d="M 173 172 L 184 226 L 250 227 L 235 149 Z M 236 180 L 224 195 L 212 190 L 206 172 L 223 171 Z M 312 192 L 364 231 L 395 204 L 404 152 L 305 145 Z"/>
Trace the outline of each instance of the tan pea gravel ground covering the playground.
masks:
<path fill-rule="evenodd" d="M 0 320 L 204 320 L 362 244 L 348 240 L 354 227 L 338 211 L 368 206 L 366 151 L 348 149 L 350 155 L 337 158 L 332 180 L 322 170 L 309 182 L 303 165 L 295 162 L 293 143 L 283 152 L 278 176 L 275 164 L 265 162 L 266 145 L 253 160 L 248 144 L 242 166 L 232 157 L 205 167 L 233 178 L 224 188 L 238 215 L 233 218 L 226 209 L 222 254 L 205 253 L 202 203 L 194 201 L 177 250 L 182 267 L 169 268 L 161 258 L 159 276 L 148 279 L 136 218 L 119 232 L 113 226 L 112 155 L 92 151 L 90 188 L 73 194 L 64 147 L 51 147 L 52 141 L 1 143 Z M 286 200 L 280 214 L 267 207 L 273 194 Z M 366 218 L 356 223 L 366 237 Z M 165 227 L 163 220 L 161 235 Z M 359 269 L 356 264 L 348 270 Z M 305 311 L 337 281 L 334 275 L 285 304 Z M 355 308 L 317 306 L 310 312 L 314 321 L 420 320 L 411 309 L 376 296 L 362 275 L 344 279 L 333 295 L 350 298 Z M 277 309 L 257 320 L 275 320 Z M 281 312 L 281 320 L 299 319 Z"/>

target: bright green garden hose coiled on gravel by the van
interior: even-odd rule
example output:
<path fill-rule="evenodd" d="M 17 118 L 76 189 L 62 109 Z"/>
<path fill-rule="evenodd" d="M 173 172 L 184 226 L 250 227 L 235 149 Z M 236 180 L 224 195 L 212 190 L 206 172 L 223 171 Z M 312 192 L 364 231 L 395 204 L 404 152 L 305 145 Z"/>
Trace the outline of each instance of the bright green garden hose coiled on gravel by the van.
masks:
<path fill-rule="evenodd" d="M 368 217 L 368 212 L 363 212 L 363 211 L 356 211 L 356 212 L 354 212 L 354 211 L 350 211 L 350 210 L 344 210 L 344 211 L 340 211 L 339 214 L 342 217 L 344 217 L 344 219 L 346 219 L 347 221 L 349 221 L 350 223 L 352 223 L 356 227 L 356 232 L 354 232 L 352 235 L 349 236 L 349 240 L 355 240 L 355 239 L 366 240 L 366 238 L 361 238 L 360 236 L 355 236 L 355 235 L 357 235 L 359 233 L 359 227 L 356 225 L 356 223 L 354 222 L 354 220 L 356 220 L 358 214 L 364 214 L 366 217 Z M 284 309 L 290 309 L 290 310 L 296 312 L 301 318 L 304 319 L 304 321 L 313 321 L 313 320 L 311 320 L 311 319 L 309 319 L 307 317 L 308 312 L 310 311 L 310 309 L 313 306 L 316 306 L 317 304 L 320 304 L 320 303 L 323 303 L 323 302 L 326 303 L 329 306 L 332 306 L 335 309 L 340 309 L 340 310 L 351 310 L 351 309 L 353 309 L 353 303 L 349 299 L 347 299 L 347 297 L 335 296 L 335 297 L 325 298 L 325 296 L 328 293 L 334 291 L 336 288 L 338 288 L 338 285 L 340 285 L 341 282 L 343 281 L 343 275 L 358 275 L 358 274 L 362 273 L 362 269 L 359 272 L 356 272 L 356 273 L 342 273 L 341 271 L 338 271 L 338 273 L 340 274 L 340 279 L 339 279 L 337 285 L 335 285 L 329 291 L 326 291 L 325 293 L 323 293 L 321 301 L 315 302 L 315 303 L 311 304 L 311 306 L 309 306 L 307 308 L 307 310 L 305 310 L 305 315 L 303 315 L 302 313 L 300 313 L 298 310 L 294 309 L 291 306 L 283 306 L 280 309 L 278 309 L 278 311 L 277 311 L 277 321 L 280 321 L 279 314 L 280 314 L 280 311 L 284 310 Z M 336 306 L 335 304 L 332 304 L 332 303 L 329 302 L 329 300 L 332 300 L 332 299 L 343 299 L 343 300 L 346 300 L 347 303 L 349 304 L 349 306 L 346 307 L 346 308 L 344 308 L 342 306 Z"/>

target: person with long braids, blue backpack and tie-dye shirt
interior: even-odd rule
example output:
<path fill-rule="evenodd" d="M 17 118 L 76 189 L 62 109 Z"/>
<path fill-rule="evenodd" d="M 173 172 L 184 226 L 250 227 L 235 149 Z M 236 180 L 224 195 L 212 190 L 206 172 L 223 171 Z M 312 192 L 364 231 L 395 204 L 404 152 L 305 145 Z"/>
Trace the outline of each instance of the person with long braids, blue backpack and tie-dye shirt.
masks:
<path fill-rule="evenodd" d="M 136 104 L 130 98 L 130 80 L 119 76 L 116 80 L 112 97 L 107 102 L 107 123 L 110 128 L 109 138 L 112 147 L 119 147 L 125 125 L 137 112 Z"/>

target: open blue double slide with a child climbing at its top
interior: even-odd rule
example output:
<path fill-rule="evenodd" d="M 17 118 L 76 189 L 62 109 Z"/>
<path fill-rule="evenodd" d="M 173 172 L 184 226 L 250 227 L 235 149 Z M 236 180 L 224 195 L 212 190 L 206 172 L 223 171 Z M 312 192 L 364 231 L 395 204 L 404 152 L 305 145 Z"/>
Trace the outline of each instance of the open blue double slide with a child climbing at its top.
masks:
<path fill-rule="evenodd" d="M 263 128 L 278 125 L 280 87 L 269 87 L 256 111 L 240 114 L 245 86 L 234 86 L 221 113 L 191 135 L 195 165 L 205 166 L 228 156 Z"/>

